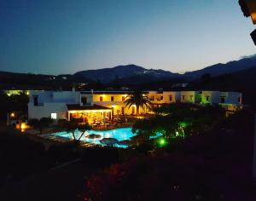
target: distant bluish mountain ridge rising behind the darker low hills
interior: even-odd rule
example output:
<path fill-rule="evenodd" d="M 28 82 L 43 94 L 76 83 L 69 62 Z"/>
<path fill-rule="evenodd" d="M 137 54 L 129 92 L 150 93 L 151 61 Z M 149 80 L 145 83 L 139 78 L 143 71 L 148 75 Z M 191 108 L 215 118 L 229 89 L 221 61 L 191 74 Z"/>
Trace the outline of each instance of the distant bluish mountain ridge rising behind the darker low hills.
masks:
<path fill-rule="evenodd" d="M 129 83 L 136 81 L 139 83 L 150 82 L 151 80 L 163 79 L 183 79 L 193 80 L 201 78 L 204 74 L 210 74 L 212 77 L 227 73 L 239 72 L 256 66 L 256 55 L 252 55 L 241 60 L 233 60 L 226 64 L 215 64 L 207 66 L 194 72 L 185 72 L 184 74 L 168 72 L 163 70 L 146 69 L 142 66 L 126 65 L 115 66 L 113 68 L 103 68 L 98 70 L 87 70 L 76 72 L 74 75 L 86 80 L 100 83 L 113 83 L 119 80 L 120 83 Z"/>

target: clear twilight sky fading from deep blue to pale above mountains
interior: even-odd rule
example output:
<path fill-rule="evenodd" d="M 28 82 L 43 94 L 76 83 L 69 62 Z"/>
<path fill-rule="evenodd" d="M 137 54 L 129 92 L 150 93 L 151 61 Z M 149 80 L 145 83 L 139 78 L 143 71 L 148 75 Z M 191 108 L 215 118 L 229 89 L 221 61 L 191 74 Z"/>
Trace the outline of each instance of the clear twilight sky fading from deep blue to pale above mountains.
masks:
<path fill-rule="evenodd" d="M 0 0 L 0 71 L 186 72 L 255 54 L 238 0 Z"/>

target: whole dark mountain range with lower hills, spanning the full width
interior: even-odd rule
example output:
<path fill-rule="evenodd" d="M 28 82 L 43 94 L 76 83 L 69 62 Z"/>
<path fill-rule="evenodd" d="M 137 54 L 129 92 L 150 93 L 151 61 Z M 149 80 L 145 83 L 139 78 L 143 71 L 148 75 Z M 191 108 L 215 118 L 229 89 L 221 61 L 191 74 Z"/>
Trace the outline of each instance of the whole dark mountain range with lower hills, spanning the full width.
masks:
<path fill-rule="evenodd" d="M 30 73 L 0 72 L 0 89 L 70 89 L 74 83 L 87 83 L 88 89 L 111 86 L 148 86 L 164 87 L 175 83 L 191 83 L 207 77 L 219 77 L 227 74 L 236 75 L 236 80 L 244 80 L 244 83 L 256 83 L 256 55 L 233 60 L 226 64 L 207 66 L 194 72 L 184 74 L 168 72 L 164 70 L 146 69 L 142 66 L 126 65 L 115 66 L 98 70 L 76 72 L 73 75 L 40 75 Z M 241 77 L 242 76 L 242 77 Z M 238 79 L 239 77 L 239 79 Z M 241 77 L 241 78 L 240 78 Z M 103 85 L 102 85 L 103 84 Z M 235 84 L 235 83 L 234 83 Z M 215 83 L 214 85 L 218 85 Z"/>

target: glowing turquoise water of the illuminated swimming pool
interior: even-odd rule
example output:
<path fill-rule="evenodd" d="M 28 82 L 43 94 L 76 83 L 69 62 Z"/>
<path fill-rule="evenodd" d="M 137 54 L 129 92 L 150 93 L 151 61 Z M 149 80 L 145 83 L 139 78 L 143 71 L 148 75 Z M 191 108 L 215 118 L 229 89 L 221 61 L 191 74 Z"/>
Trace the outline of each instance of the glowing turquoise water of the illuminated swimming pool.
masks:
<path fill-rule="evenodd" d="M 77 139 L 79 138 L 80 134 L 81 133 L 79 132 L 79 130 L 76 130 L 75 136 L 76 136 Z M 92 134 L 101 135 L 101 137 L 96 138 L 96 139 L 90 139 L 90 138 L 86 137 L 87 135 L 92 135 Z M 53 135 L 64 137 L 64 138 L 67 138 L 67 139 L 73 139 L 72 133 L 68 133 L 66 131 L 51 134 L 51 136 L 53 136 Z M 131 128 L 110 129 L 110 130 L 102 130 L 102 131 L 88 130 L 82 136 L 81 141 L 87 141 L 87 142 L 90 142 L 90 143 L 94 143 L 96 145 L 103 146 L 103 144 L 101 143 L 101 140 L 103 138 L 115 138 L 118 141 L 125 141 L 125 140 L 131 140 L 131 137 L 135 136 L 135 135 L 137 135 L 137 134 L 132 133 Z M 155 138 L 155 137 L 159 137 L 160 135 L 161 134 L 152 136 L 152 137 L 150 137 L 150 139 Z M 119 144 L 115 144 L 114 146 L 123 147 L 123 148 L 127 147 L 125 145 L 119 145 Z"/>

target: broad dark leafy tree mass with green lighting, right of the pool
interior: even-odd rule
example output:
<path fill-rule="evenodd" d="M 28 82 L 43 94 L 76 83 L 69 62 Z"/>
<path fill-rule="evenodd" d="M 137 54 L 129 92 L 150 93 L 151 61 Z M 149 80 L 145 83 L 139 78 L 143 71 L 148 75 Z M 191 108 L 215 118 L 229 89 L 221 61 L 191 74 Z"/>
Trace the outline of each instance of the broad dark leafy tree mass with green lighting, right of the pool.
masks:
<path fill-rule="evenodd" d="M 138 120 L 132 131 L 148 139 L 161 134 L 171 140 L 203 133 L 218 126 L 225 118 L 224 109 L 218 106 L 166 104 L 154 111 L 156 116 Z"/>

